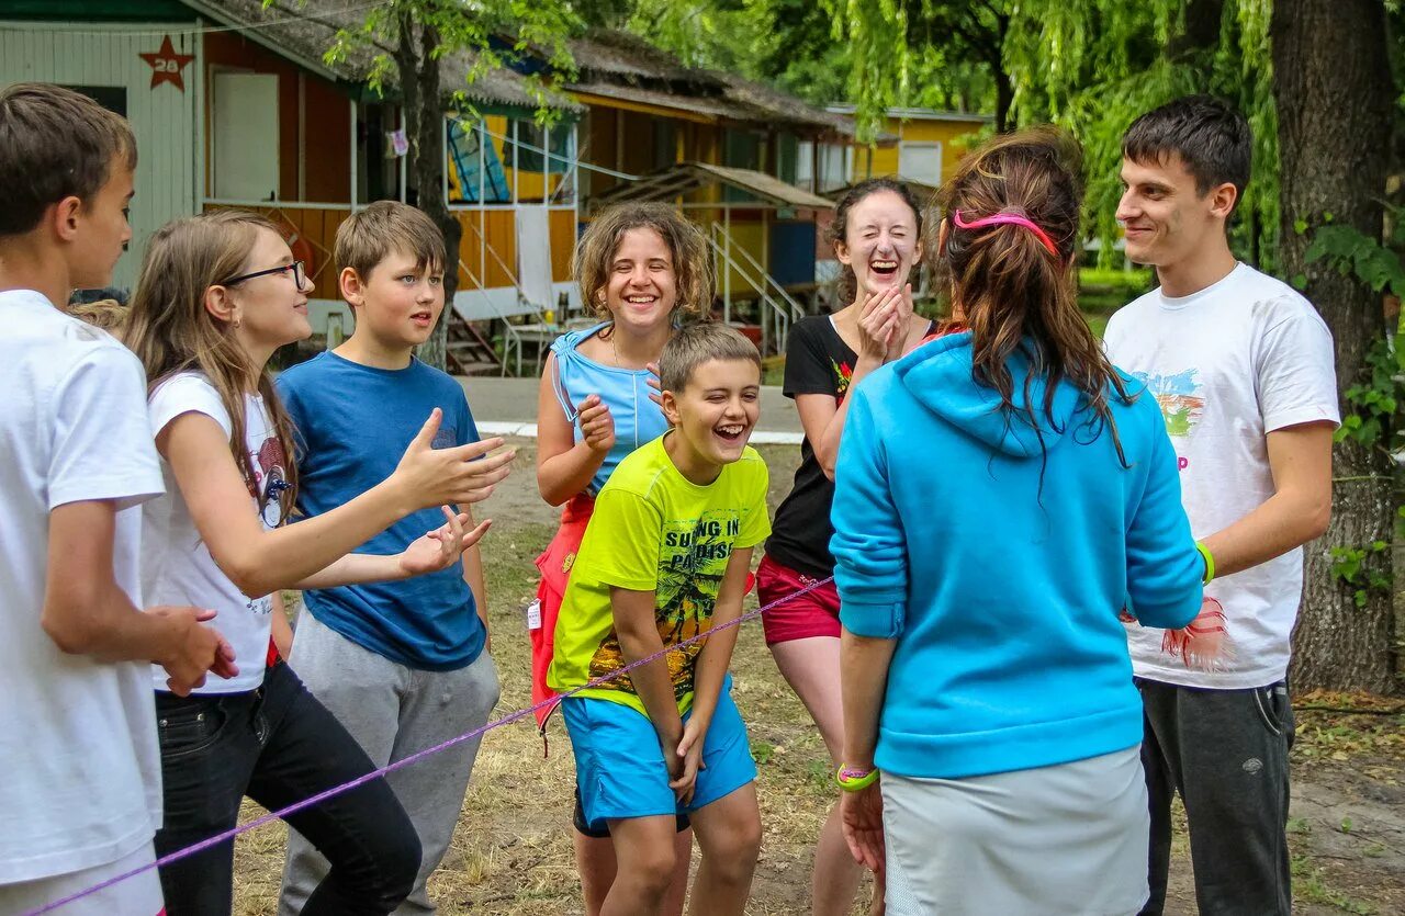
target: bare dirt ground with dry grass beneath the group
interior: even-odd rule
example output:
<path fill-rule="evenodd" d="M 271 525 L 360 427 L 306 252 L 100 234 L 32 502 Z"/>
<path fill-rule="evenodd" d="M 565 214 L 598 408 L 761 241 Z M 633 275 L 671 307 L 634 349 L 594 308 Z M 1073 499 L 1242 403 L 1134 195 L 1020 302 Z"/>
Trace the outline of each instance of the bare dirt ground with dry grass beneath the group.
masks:
<path fill-rule="evenodd" d="M 497 715 L 528 705 L 523 608 L 535 590 L 531 561 L 555 523 L 537 495 L 532 443 L 514 445 L 516 472 L 479 513 L 495 520 L 483 552 L 493 653 L 503 677 Z M 763 447 L 762 452 L 771 468 L 774 507 L 790 489 L 798 450 Z M 732 670 L 760 770 L 766 827 L 747 912 L 806 913 L 811 850 L 835 798 L 829 761 L 804 707 L 776 672 L 759 624 L 743 627 Z M 1297 705 L 1288 822 L 1294 912 L 1405 913 L 1405 705 L 1343 695 L 1300 697 Z M 547 749 L 544 757 L 531 724 L 485 738 L 454 844 L 430 882 L 441 913 L 583 912 L 570 851 L 570 742 L 559 721 L 549 725 Z M 254 805 L 246 806 L 246 818 L 257 813 Z M 274 912 L 284 840 L 281 825 L 239 839 L 235 913 Z M 1191 915 L 1183 830 L 1177 850 L 1168 912 Z"/>

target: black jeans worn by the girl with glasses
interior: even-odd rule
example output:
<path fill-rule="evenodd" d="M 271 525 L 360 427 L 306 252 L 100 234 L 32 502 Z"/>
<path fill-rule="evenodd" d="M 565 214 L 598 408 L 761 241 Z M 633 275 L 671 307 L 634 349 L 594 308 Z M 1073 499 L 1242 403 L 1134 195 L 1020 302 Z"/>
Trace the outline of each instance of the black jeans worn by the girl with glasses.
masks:
<path fill-rule="evenodd" d="M 374 770 L 341 724 L 285 663 L 263 687 L 226 695 L 156 694 L 166 856 L 235 826 L 244 795 L 284 808 Z M 414 886 L 420 842 L 384 778 L 288 818 L 332 870 L 308 898 L 306 916 L 384 916 Z M 170 916 L 228 916 L 233 843 L 221 843 L 160 870 Z"/>

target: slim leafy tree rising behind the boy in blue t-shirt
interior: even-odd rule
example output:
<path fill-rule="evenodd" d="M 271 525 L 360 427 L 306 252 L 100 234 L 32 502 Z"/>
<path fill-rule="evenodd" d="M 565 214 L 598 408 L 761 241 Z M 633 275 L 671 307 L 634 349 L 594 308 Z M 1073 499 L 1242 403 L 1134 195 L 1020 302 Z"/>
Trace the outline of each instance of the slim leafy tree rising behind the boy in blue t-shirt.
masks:
<path fill-rule="evenodd" d="M 271 0 L 264 0 L 266 4 Z M 458 247 L 462 225 L 444 198 L 445 115 L 459 111 L 476 115 L 465 91 L 493 70 L 511 66 L 525 56 L 547 60 L 547 73 L 570 79 L 575 65 L 566 39 L 580 27 L 568 0 L 385 0 L 370 7 L 355 28 L 337 32 L 326 52 L 329 62 L 354 49 L 374 51 L 367 83 L 385 96 L 398 94 L 405 110 L 409 139 L 409 187 L 416 205 L 444 233 L 451 263 L 444 271 L 444 296 L 452 303 L 458 287 Z M 525 76 L 523 86 L 535 100 L 537 118 L 549 124 L 556 110 L 551 84 L 540 76 Z M 450 308 L 444 309 L 420 358 L 444 368 Z"/>

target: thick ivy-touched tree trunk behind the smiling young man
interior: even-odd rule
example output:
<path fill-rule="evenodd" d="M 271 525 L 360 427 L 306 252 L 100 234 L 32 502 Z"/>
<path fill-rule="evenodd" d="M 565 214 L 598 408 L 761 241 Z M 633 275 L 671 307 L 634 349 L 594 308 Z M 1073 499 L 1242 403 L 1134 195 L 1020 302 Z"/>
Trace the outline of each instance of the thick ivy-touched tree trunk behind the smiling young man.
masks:
<path fill-rule="evenodd" d="M 1273 93 L 1281 150 L 1281 257 L 1287 275 L 1307 277 L 1307 296 L 1336 344 L 1339 391 L 1363 378 L 1381 337 L 1381 296 L 1354 277 L 1307 264 L 1308 235 L 1297 221 L 1322 225 L 1332 214 L 1371 237 L 1381 235 L 1392 80 L 1380 0 L 1276 0 Z M 1343 443 L 1333 452 L 1333 513 L 1326 535 L 1307 545 L 1302 610 L 1294 632 L 1298 688 L 1395 688 L 1388 590 L 1367 593 L 1332 573 L 1332 548 L 1391 541 L 1391 461 L 1381 448 Z M 1388 568 L 1390 554 L 1374 561 Z"/>

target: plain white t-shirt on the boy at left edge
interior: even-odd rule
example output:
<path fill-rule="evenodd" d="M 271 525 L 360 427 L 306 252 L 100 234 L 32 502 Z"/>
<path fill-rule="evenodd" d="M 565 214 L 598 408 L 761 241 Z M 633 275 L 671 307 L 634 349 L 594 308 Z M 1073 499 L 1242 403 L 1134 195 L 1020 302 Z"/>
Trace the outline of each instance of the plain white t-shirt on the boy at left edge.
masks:
<path fill-rule="evenodd" d="M 140 510 L 162 492 L 142 365 L 30 289 L 0 292 L 0 884 L 104 865 L 162 822 L 146 662 L 65 655 L 41 627 L 49 513 L 117 509 L 112 575 L 136 607 Z"/>

